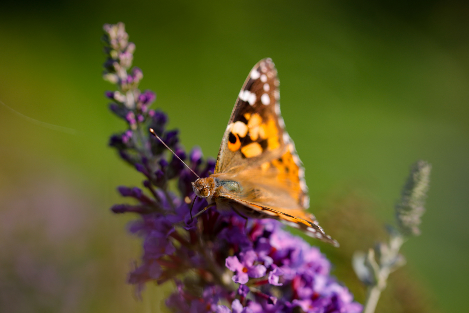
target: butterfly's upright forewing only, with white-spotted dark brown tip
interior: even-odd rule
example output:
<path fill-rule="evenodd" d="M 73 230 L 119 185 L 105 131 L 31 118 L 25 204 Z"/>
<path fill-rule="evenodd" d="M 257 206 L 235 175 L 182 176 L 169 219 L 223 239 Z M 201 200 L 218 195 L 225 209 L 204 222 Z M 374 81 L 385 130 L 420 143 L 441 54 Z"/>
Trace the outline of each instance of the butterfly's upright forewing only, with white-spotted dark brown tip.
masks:
<path fill-rule="evenodd" d="M 284 148 L 283 120 L 276 114 L 280 97 L 277 70 L 270 59 L 260 61 L 239 92 L 222 139 L 215 173 L 229 172 L 265 158 L 278 155 Z M 280 119 L 279 119 L 280 117 Z"/>

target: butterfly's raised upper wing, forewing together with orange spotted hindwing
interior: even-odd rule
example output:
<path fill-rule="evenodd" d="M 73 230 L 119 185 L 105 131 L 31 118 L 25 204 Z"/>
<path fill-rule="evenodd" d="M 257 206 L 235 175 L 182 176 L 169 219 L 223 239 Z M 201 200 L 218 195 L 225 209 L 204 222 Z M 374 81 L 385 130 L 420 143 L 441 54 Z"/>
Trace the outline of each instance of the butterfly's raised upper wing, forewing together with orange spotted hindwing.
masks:
<path fill-rule="evenodd" d="M 257 170 L 287 190 L 296 205 L 308 208 L 303 164 L 285 130 L 279 100 L 277 69 L 271 59 L 261 60 L 236 99 L 214 173 L 237 175 Z"/>

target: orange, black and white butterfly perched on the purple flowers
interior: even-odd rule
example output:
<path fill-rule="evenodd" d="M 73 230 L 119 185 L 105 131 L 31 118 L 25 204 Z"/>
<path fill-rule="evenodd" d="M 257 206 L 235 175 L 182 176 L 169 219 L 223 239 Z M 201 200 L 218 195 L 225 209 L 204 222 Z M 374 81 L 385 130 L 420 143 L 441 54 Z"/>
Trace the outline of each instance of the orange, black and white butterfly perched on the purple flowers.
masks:
<path fill-rule="evenodd" d="M 274 218 L 338 246 L 306 211 L 304 168 L 280 115 L 278 87 L 272 60 L 259 61 L 234 105 L 214 174 L 192 183 L 194 192 L 218 210 Z"/>

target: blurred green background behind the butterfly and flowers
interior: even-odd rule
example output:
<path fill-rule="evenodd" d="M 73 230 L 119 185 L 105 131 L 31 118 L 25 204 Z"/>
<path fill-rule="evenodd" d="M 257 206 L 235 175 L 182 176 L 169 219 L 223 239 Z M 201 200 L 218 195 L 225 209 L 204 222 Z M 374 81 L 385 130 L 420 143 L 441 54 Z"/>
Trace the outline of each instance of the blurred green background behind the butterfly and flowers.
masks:
<path fill-rule="evenodd" d="M 0 106 L 1 312 L 159 312 L 172 288 L 133 297 L 125 280 L 139 240 L 125 230 L 132 216 L 108 210 L 122 201 L 117 185 L 142 180 L 107 147 L 124 124 L 103 96 L 113 86 L 101 78 L 100 37 L 118 21 L 136 44 L 142 89 L 158 94 L 153 107 L 206 156 L 251 67 L 273 59 L 311 210 L 348 252 L 321 248 L 362 303 L 349 256 L 393 221 L 410 164 L 431 162 L 422 236 L 404 245 L 408 264 L 395 276 L 405 277 L 377 312 L 467 310 L 467 2 L 54 0 L 0 9 L 0 100 L 77 130 Z M 402 302 L 393 290 L 417 296 Z"/>

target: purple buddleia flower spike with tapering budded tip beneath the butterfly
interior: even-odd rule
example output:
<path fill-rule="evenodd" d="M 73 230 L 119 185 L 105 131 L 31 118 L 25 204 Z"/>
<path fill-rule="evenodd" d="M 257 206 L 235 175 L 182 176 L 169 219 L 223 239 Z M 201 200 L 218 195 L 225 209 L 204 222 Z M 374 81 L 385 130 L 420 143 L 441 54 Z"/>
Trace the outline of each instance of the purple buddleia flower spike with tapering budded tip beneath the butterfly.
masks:
<path fill-rule="evenodd" d="M 191 219 L 197 178 L 152 137 L 152 128 L 198 176 L 214 169 L 198 148 L 185 153 L 177 130 L 166 130 L 167 116 L 149 109 L 155 94 L 140 92 L 142 71 L 130 69 L 135 45 L 124 24 L 104 26 L 107 60 L 104 77 L 117 91 L 106 92 L 111 111 L 128 123 L 113 135 L 110 145 L 121 158 L 144 175 L 145 191 L 119 187 L 132 204 L 112 207 L 114 213 L 132 212 L 138 219 L 130 232 L 142 237 L 143 256 L 129 274 L 129 283 L 142 290 L 146 282 L 173 281 L 166 305 L 174 312 L 314 312 L 359 313 L 348 289 L 330 275 L 330 262 L 316 247 L 292 236 L 273 220 L 249 219 L 210 208 Z M 171 181 L 177 191 L 170 191 Z M 171 184 L 174 185 L 174 184 Z M 207 206 L 197 198 L 196 214 Z"/>

